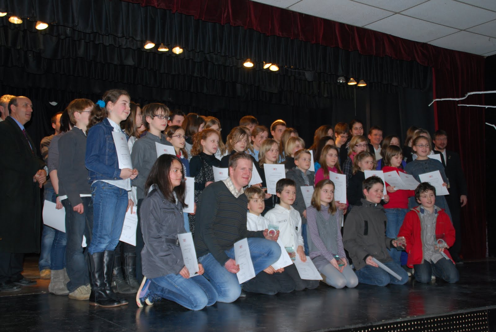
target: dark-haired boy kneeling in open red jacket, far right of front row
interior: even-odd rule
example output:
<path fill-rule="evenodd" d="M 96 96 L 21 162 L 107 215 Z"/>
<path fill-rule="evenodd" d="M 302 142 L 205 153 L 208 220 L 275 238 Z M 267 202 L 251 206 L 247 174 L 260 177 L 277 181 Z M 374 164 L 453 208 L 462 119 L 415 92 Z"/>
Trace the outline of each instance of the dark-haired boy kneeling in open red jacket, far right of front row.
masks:
<path fill-rule="evenodd" d="M 427 182 L 415 190 L 420 205 L 405 216 L 398 237 L 406 240 L 407 266 L 414 268 L 419 282 L 431 281 L 431 275 L 449 283 L 459 279 L 448 249 L 455 242 L 455 229 L 443 209 L 434 205 L 435 188 Z"/>

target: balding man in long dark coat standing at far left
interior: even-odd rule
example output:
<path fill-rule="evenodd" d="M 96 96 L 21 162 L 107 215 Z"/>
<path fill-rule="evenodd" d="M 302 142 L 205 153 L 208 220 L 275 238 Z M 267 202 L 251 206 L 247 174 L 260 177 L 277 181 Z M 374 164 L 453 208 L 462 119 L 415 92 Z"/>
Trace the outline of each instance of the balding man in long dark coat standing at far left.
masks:
<path fill-rule="evenodd" d="M 14 97 L 8 109 L 10 116 L 0 122 L 0 291 L 36 284 L 21 272 L 24 254 L 40 250 L 40 188 L 47 179 L 45 163 L 24 129 L 31 100 Z"/>

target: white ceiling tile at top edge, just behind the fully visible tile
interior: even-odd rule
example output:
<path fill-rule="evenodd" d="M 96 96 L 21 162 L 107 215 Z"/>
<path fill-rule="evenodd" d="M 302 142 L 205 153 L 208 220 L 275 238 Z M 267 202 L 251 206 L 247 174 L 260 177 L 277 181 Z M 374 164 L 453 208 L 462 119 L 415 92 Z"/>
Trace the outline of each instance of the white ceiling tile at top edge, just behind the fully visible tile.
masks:
<path fill-rule="evenodd" d="M 467 29 L 496 18 L 493 11 L 453 0 L 430 0 L 402 14 L 457 29 Z"/>

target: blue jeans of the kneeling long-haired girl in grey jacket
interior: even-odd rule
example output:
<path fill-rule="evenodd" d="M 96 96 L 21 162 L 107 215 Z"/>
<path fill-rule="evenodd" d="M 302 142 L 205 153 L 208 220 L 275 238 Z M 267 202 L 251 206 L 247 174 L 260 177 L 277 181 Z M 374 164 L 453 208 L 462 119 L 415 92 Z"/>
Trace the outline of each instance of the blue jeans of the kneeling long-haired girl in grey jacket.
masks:
<path fill-rule="evenodd" d="M 179 303 L 190 310 L 201 310 L 217 302 L 217 292 L 203 275 L 189 279 L 181 274 L 167 274 L 151 279 L 150 293 Z"/>

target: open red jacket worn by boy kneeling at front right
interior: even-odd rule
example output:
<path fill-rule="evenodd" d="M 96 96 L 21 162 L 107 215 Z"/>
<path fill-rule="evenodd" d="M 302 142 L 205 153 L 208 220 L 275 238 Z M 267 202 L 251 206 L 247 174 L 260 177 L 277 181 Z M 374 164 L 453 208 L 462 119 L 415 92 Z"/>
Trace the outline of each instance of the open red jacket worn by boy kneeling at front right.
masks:
<path fill-rule="evenodd" d="M 423 251 L 422 251 L 422 236 L 421 236 L 421 226 L 420 226 L 420 206 L 411 209 L 405 216 L 403 220 L 403 225 L 400 228 L 398 237 L 404 236 L 406 239 L 406 252 L 408 253 L 407 266 L 413 267 L 416 264 L 422 263 Z M 444 241 L 451 247 L 455 243 L 455 229 L 449 216 L 444 210 L 437 211 L 437 218 L 435 222 L 435 233 L 444 234 Z M 444 254 L 449 257 L 451 261 L 451 255 L 449 251 L 444 250 Z M 453 261 L 453 264 L 455 262 Z"/>

